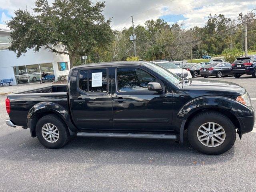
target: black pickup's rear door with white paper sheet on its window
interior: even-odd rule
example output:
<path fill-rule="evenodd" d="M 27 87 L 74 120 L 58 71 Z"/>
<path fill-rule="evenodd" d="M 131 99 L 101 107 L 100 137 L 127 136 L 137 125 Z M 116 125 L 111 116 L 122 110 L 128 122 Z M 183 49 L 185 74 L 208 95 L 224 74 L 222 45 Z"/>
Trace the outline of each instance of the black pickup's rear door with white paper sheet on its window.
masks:
<path fill-rule="evenodd" d="M 70 108 L 74 124 L 81 130 L 113 128 L 110 72 L 106 66 L 73 70 Z"/>

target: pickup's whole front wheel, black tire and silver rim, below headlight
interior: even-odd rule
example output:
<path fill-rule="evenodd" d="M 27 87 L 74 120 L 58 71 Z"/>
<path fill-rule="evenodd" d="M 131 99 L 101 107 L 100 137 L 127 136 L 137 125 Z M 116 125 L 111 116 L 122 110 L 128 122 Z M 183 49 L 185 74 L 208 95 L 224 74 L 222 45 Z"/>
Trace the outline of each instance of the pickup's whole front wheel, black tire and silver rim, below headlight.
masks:
<path fill-rule="evenodd" d="M 202 112 L 188 124 L 188 140 L 205 154 L 222 154 L 234 145 L 236 129 L 231 120 L 220 112 Z"/>

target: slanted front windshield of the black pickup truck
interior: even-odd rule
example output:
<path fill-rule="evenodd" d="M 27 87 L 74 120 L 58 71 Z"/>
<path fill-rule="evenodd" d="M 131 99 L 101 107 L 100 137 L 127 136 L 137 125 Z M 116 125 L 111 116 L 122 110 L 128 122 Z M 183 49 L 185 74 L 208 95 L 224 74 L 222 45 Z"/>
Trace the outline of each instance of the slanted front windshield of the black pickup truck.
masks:
<path fill-rule="evenodd" d="M 177 85 L 182 80 L 182 78 L 179 78 L 178 76 L 176 76 L 172 72 L 166 70 L 165 68 L 162 68 L 162 67 L 158 66 L 157 64 L 146 63 L 145 66 L 150 68 L 154 72 L 158 73 L 162 77 L 166 78 L 166 80 L 168 80 L 169 82 L 171 82 L 175 85 Z"/>

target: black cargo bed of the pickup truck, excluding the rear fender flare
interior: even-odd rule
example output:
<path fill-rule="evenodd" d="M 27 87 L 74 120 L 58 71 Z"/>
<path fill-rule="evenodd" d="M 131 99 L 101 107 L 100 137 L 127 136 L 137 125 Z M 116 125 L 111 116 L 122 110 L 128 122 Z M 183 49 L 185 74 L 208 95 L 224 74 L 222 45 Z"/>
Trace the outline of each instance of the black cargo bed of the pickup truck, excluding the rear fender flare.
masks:
<path fill-rule="evenodd" d="M 9 94 L 11 112 L 10 119 L 17 126 L 27 126 L 27 116 L 30 109 L 40 102 L 53 102 L 68 110 L 67 86 L 53 85 L 45 88 Z"/>

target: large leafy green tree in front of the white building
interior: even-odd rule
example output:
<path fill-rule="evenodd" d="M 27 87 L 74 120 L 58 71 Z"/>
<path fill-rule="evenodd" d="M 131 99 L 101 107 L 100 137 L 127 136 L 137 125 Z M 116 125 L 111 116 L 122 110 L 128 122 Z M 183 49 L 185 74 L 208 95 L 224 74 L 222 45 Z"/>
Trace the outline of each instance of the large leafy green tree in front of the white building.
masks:
<path fill-rule="evenodd" d="M 10 50 L 17 57 L 27 49 L 46 47 L 58 54 L 68 54 L 72 67 L 76 56 L 84 56 L 95 47 L 106 48 L 112 41 L 111 19 L 105 21 L 104 2 L 91 0 L 36 0 L 35 15 L 27 10 L 15 11 L 7 22 L 12 30 Z M 61 44 L 61 46 L 57 46 Z"/>

